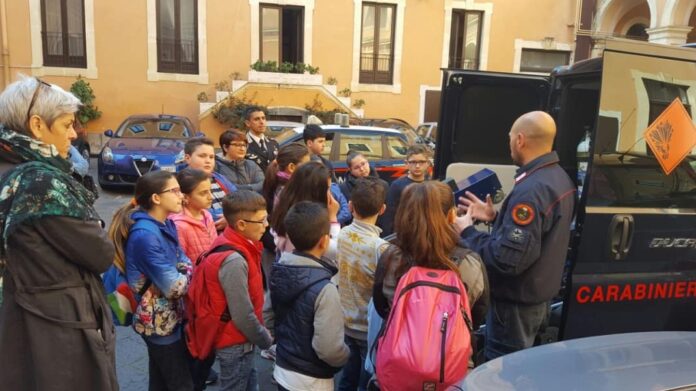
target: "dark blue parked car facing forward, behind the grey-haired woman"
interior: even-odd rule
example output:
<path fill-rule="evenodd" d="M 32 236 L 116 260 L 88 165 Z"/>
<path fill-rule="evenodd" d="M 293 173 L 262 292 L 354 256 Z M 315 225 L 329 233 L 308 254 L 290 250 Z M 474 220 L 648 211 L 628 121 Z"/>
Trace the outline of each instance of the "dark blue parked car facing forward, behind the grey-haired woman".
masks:
<path fill-rule="evenodd" d="M 178 115 L 132 115 L 116 132 L 98 157 L 97 172 L 102 187 L 129 187 L 154 170 L 176 170 L 175 160 L 186 140 L 196 133 L 191 121 Z"/>

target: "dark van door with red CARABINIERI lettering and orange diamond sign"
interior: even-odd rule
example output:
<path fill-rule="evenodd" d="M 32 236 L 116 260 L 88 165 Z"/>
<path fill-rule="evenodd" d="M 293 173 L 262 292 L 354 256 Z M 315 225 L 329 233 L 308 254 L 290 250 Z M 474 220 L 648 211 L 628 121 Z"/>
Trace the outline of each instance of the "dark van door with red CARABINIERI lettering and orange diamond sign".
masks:
<path fill-rule="evenodd" d="M 675 98 L 693 118 L 696 52 L 607 41 L 563 339 L 696 330 L 696 150 L 667 175 L 644 139 Z"/>

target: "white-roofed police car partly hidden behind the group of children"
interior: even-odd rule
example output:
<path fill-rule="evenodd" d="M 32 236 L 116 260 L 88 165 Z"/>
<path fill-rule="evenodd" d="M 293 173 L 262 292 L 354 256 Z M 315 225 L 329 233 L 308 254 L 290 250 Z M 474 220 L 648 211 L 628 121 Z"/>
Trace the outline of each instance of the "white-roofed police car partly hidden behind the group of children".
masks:
<path fill-rule="evenodd" d="M 336 176 L 342 178 L 348 171 L 346 155 L 349 150 L 360 151 L 379 176 L 391 182 L 406 173 L 406 136 L 395 129 L 370 126 L 321 125 L 326 132 L 325 158 L 333 163 Z M 282 147 L 292 142 L 302 142 L 304 125 L 288 129 L 278 135 L 276 140 Z M 340 179 L 339 179 L 340 180 Z"/>

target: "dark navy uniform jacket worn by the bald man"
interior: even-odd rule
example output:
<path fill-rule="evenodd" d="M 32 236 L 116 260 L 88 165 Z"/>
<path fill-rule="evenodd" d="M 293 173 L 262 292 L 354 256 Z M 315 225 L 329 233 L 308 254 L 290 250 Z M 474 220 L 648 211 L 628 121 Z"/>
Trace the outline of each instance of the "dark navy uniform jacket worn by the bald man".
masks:
<path fill-rule="evenodd" d="M 575 192 L 558 155 L 549 152 L 517 170 L 490 234 L 473 226 L 462 231 L 486 264 L 494 300 L 539 304 L 558 293 Z"/>

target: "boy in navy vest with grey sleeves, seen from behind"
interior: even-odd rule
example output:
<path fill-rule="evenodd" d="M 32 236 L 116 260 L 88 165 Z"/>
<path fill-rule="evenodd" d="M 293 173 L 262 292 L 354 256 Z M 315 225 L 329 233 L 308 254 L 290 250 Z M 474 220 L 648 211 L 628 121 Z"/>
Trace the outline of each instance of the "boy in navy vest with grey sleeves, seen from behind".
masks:
<path fill-rule="evenodd" d="M 341 300 L 331 277 L 326 207 L 302 201 L 284 220 L 293 253 L 283 253 L 271 272 L 276 315 L 276 367 L 279 390 L 333 391 L 333 377 L 348 361 Z"/>

